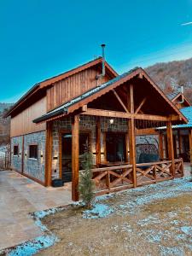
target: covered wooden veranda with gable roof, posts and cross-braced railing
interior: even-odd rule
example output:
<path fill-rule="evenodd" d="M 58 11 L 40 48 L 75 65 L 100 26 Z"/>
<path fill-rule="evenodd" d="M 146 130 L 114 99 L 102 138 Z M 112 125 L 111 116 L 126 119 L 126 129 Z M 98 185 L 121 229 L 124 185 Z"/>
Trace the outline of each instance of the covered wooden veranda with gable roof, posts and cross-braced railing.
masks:
<path fill-rule="evenodd" d="M 36 123 L 47 121 L 48 185 L 51 183 L 54 157 L 51 141 L 53 123 L 55 120 L 71 120 L 73 201 L 79 200 L 79 172 L 83 172 L 79 170 L 79 134 L 82 131 L 80 120 L 84 116 L 94 117 L 95 120 L 95 149 L 91 148 L 96 156 L 92 172 L 97 195 L 183 176 L 183 160 L 174 158 L 172 125 L 187 123 L 187 119 L 142 68 L 135 68 L 34 120 Z M 109 127 L 103 126 L 104 119 L 110 124 Z M 113 154 L 108 154 L 110 147 L 107 147 L 106 137 L 106 131 L 111 132 L 110 127 L 116 119 L 124 120 L 126 125 L 125 147 L 121 148 L 123 154 L 119 155 L 119 159 L 112 157 L 115 150 Z M 168 158 L 164 160 L 160 159 L 160 155 L 154 157 L 152 154 L 143 154 L 138 158 L 136 137 L 139 131 L 163 125 L 166 125 Z M 115 132 L 119 137 L 118 129 L 113 134 Z M 119 148 L 116 149 L 118 154 L 117 150 Z"/>

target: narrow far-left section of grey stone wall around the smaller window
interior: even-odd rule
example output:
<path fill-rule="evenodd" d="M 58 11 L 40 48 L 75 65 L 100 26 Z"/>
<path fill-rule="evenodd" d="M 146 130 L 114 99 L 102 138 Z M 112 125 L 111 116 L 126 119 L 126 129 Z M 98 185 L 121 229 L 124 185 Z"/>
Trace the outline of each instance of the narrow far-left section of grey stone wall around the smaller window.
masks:
<path fill-rule="evenodd" d="M 19 155 L 14 155 L 14 146 L 18 146 Z M 11 138 L 11 168 L 21 172 L 22 169 L 22 136 Z"/>

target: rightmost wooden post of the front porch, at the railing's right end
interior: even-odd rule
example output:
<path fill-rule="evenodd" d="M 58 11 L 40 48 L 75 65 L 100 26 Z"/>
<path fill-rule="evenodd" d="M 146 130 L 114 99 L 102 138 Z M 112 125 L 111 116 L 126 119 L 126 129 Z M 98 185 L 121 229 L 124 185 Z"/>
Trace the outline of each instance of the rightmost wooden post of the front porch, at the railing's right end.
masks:
<path fill-rule="evenodd" d="M 166 134 L 167 134 L 167 146 L 168 146 L 168 159 L 172 160 L 172 176 L 175 177 L 175 161 L 174 161 L 174 148 L 173 148 L 173 137 L 172 137 L 172 122 L 166 123 Z"/>

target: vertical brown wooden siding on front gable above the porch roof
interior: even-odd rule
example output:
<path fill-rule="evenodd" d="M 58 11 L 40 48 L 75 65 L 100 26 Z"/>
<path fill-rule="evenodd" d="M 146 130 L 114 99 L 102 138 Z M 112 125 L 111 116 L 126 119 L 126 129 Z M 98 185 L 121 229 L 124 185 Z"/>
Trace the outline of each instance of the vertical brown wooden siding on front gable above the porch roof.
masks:
<path fill-rule="evenodd" d="M 105 78 L 96 79 L 96 75 L 102 71 L 96 67 L 88 68 L 80 73 L 73 74 L 67 79 L 56 82 L 54 86 L 47 90 L 47 109 L 48 111 L 60 106 L 64 102 L 72 100 L 87 90 L 95 88 L 97 85 L 107 82 L 108 75 Z"/>

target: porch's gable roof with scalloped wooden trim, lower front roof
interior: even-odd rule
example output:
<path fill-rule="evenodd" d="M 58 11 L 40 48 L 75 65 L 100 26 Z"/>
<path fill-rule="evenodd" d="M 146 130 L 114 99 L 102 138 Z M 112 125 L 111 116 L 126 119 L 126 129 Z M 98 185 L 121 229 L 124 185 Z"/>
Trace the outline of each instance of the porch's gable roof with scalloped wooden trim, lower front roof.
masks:
<path fill-rule="evenodd" d="M 187 122 L 187 119 L 185 119 L 183 114 L 179 112 L 179 110 L 166 97 L 166 95 L 162 92 L 162 90 L 160 90 L 158 85 L 154 84 L 154 81 L 148 77 L 148 74 L 145 73 L 145 71 L 141 67 L 135 67 L 130 71 L 123 73 L 114 79 L 109 80 L 107 83 L 101 84 L 100 86 L 85 92 L 81 96 L 74 98 L 72 101 L 62 104 L 59 108 L 55 108 L 54 110 L 49 111 L 48 113 L 44 114 L 38 119 L 34 119 L 33 122 L 40 123 L 40 122 L 48 121 L 50 119 L 57 119 L 63 115 L 67 115 L 68 113 L 73 113 L 73 111 L 83 107 L 84 104 L 92 102 L 97 97 L 106 94 L 108 91 L 113 90 L 120 84 L 124 84 L 126 81 L 136 77 L 137 75 L 144 76 L 145 79 L 147 79 L 148 82 L 154 87 L 154 89 L 160 93 L 160 95 L 164 98 L 164 100 L 168 102 L 168 104 L 174 109 L 174 111 L 181 116 L 181 119 L 183 119 L 184 122 Z"/>

